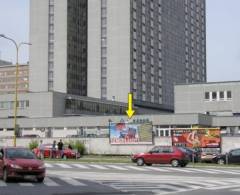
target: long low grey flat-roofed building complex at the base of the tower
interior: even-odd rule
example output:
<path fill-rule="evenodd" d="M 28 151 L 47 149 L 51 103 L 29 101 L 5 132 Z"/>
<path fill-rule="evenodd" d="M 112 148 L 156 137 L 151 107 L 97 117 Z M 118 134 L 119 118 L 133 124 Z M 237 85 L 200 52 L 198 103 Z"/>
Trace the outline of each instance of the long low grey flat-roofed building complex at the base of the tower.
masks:
<path fill-rule="evenodd" d="M 134 107 L 128 119 L 126 103 L 59 92 L 19 94 L 17 123 L 22 135 L 43 138 L 105 137 L 111 122 L 151 122 L 155 137 L 171 142 L 174 128 L 211 128 L 240 140 L 240 82 L 201 83 L 175 86 L 175 113 L 159 113 Z M 13 136 L 14 94 L 0 96 L 0 137 Z M 161 143 L 161 142 L 159 142 Z M 228 148 L 235 147 L 231 139 Z"/>

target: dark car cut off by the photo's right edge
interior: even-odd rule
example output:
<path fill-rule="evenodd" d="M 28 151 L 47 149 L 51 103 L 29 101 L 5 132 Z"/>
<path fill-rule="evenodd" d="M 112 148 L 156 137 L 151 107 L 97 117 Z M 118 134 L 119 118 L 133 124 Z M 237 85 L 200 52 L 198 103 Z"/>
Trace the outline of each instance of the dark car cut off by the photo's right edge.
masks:
<path fill-rule="evenodd" d="M 240 148 L 230 150 L 226 154 L 219 154 L 213 161 L 218 164 L 240 164 Z"/>

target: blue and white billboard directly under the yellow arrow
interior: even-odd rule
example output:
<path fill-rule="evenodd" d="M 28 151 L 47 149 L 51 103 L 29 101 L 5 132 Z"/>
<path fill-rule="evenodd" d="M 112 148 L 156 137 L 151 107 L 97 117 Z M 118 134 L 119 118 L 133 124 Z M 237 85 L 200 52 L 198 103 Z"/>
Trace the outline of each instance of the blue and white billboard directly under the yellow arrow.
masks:
<path fill-rule="evenodd" d="M 110 144 L 152 144 L 151 123 L 110 123 Z"/>

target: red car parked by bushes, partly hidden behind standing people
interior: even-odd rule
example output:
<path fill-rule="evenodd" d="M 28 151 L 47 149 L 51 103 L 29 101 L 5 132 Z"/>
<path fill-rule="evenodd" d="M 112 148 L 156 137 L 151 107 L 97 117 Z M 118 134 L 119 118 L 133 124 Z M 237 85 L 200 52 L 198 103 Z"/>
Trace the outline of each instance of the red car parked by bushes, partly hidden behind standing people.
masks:
<path fill-rule="evenodd" d="M 60 154 L 60 151 L 57 148 L 55 151 L 52 150 L 52 144 L 43 144 L 43 148 L 44 148 L 44 152 L 43 152 L 44 158 L 52 157 L 52 152 L 54 152 L 54 156 L 56 158 L 80 158 L 79 152 L 67 147 L 63 148 L 62 156 Z M 33 152 L 38 158 L 41 157 L 41 152 L 39 148 L 34 148 Z"/>

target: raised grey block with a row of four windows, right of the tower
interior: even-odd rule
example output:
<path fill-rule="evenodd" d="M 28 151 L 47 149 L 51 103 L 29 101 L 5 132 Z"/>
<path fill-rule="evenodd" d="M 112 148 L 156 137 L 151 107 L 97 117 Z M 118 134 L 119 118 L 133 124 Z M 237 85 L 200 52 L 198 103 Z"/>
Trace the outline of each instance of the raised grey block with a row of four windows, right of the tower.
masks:
<path fill-rule="evenodd" d="M 175 85 L 175 113 L 240 115 L 240 81 Z"/>

